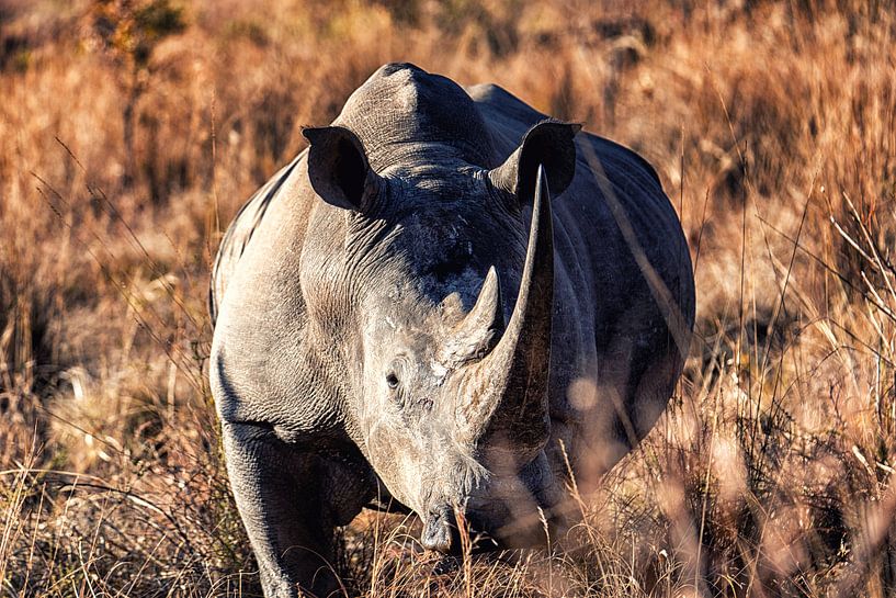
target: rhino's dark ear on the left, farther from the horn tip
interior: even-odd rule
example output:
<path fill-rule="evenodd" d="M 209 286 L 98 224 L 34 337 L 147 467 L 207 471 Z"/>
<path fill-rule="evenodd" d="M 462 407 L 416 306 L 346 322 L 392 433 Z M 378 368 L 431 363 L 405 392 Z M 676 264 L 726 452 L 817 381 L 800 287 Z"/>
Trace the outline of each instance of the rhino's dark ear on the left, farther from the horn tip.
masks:
<path fill-rule="evenodd" d="M 308 179 L 315 193 L 330 205 L 365 212 L 378 176 L 358 135 L 342 126 L 306 127 L 302 134 L 311 144 Z"/>

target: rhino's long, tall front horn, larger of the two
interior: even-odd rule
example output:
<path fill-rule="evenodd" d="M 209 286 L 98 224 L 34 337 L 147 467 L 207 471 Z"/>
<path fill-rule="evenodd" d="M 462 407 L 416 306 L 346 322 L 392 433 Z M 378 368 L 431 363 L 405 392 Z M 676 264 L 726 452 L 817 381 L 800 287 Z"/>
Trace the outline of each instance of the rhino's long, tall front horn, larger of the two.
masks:
<path fill-rule="evenodd" d="M 513 315 L 497 347 L 478 365 L 466 419 L 480 432 L 510 432 L 515 443 L 534 448 L 543 445 L 551 432 L 554 234 L 543 166 L 537 168 L 533 194 L 529 247 Z"/>

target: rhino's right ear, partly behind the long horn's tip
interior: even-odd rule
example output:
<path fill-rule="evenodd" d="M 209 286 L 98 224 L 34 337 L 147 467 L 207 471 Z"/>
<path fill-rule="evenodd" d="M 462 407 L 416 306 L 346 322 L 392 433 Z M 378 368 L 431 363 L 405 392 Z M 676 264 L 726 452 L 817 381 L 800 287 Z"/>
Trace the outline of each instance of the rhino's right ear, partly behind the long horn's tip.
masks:
<path fill-rule="evenodd" d="M 569 187 L 576 174 L 576 144 L 572 138 L 581 129 L 577 123 L 542 121 L 530 128 L 523 142 L 504 163 L 489 171 L 496 188 L 515 195 L 521 205 L 532 203 L 538 165 L 544 166 L 551 195 L 557 196 Z"/>

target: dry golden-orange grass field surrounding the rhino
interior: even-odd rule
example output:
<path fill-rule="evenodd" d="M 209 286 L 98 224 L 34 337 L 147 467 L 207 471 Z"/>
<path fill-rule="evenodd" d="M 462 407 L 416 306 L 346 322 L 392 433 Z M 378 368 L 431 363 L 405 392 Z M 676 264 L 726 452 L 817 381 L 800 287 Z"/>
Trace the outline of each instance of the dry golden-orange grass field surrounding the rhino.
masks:
<path fill-rule="evenodd" d="M 344 530 L 350 596 L 896 596 L 896 5 L 0 0 L 0 595 L 258 596 L 209 264 L 376 67 L 494 81 L 655 165 L 697 325 L 564 553 Z"/>

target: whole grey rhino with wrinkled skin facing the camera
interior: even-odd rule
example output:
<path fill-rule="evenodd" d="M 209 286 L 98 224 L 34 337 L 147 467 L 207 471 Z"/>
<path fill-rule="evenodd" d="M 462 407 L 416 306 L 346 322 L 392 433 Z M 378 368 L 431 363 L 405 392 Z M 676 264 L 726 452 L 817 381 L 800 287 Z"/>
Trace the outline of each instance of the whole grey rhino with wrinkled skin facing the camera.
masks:
<path fill-rule="evenodd" d="M 455 514 L 484 549 L 556 540 L 566 458 L 593 488 L 662 411 L 694 312 L 676 213 L 634 153 L 545 121 L 387 65 L 230 225 L 211 379 L 266 596 L 337 589 L 333 528 L 372 504 L 443 552 Z"/>

